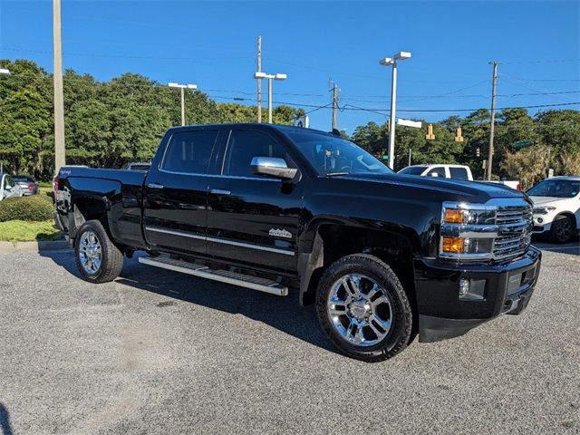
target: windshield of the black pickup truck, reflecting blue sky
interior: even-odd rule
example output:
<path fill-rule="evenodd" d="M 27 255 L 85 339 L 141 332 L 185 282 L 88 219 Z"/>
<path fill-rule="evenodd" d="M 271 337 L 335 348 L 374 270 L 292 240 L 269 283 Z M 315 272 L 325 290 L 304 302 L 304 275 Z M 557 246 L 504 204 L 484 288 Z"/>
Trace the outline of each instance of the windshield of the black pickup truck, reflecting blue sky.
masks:
<path fill-rule="evenodd" d="M 311 131 L 289 131 L 286 134 L 319 175 L 393 173 L 381 160 L 349 140 Z"/>

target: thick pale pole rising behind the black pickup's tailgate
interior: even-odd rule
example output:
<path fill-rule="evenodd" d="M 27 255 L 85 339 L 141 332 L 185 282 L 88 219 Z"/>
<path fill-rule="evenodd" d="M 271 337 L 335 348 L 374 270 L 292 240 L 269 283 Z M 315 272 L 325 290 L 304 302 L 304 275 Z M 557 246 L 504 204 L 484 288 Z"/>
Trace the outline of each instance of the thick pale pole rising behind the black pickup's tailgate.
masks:
<path fill-rule="evenodd" d="M 53 44 L 54 44 L 54 172 L 65 164 L 64 157 L 64 96 L 63 96 L 63 51 L 61 39 L 61 0 L 53 0 Z"/>

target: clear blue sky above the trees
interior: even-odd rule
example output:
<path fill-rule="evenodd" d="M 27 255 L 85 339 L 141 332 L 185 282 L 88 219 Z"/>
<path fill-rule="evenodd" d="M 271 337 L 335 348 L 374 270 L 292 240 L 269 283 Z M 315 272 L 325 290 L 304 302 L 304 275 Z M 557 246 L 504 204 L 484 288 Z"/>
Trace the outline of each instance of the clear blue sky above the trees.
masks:
<path fill-rule="evenodd" d="M 498 107 L 580 102 L 578 2 L 62 2 L 64 68 L 193 82 L 218 102 L 255 99 L 261 34 L 263 71 L 288 75 L 273 100 L 312 110 L 331 102 L 332 78 L 349 133 L 385 120 L 353 109 L 389 108 L 391 69 L 378 61 L 399 51 L 412 53 L 399 66 L 401 117 L 488 107 L 492 60 Z M 52 53 L 52 2 L 0 1 L 0 58 L 52 72 Z M 310 116 L 330 128 L 330 110 Z"/>

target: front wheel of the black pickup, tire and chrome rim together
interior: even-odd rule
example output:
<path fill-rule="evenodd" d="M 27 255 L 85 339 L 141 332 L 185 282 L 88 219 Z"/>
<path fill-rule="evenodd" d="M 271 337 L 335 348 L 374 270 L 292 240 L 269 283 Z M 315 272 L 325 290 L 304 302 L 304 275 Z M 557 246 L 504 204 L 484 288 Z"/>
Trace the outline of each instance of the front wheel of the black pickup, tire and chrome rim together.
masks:
<path fill-rule="evenodd" d="M 365 362 L 392 358 L 411 342 L 409 298 L 376 256 L 343 256 L 329 266 L 318 285 L 316 313 L 334 346 Z"/>

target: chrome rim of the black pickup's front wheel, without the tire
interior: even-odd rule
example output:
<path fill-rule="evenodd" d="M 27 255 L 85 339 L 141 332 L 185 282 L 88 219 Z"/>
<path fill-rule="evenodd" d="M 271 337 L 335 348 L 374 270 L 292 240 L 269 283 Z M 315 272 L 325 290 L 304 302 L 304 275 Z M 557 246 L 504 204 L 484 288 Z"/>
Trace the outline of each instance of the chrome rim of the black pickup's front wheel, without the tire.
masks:
<path fill-rule="evenodd" d="M 347 343 L 372 346 L 391 330 L 391 297 L 366 275 L 343 275 L 332 286 L 327 311 L 336 332 Z"/>

